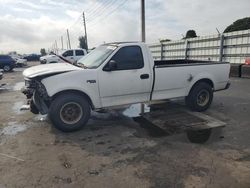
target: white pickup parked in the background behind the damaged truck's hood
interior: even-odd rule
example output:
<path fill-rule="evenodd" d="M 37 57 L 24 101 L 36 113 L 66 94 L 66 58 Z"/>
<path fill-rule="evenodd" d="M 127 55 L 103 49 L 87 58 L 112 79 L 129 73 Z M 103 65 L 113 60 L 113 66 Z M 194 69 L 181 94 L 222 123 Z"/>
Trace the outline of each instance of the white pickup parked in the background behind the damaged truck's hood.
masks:
<path fill-rule="evenodd" d="M 59 55 L 46 55 L 40 57 L 41 64 L 48 64 L 48 63 L 65 63 L 70 62 L 75 64 L 79 59 L 87 54 L 85 49 L 72 49 L 63 51 Z"/>

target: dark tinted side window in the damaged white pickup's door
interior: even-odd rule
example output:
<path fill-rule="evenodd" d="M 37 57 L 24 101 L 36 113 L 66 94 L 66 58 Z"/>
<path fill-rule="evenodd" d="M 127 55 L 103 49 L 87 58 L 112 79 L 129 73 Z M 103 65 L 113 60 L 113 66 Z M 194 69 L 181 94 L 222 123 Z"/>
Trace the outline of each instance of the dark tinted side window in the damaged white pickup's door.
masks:
<path fill-rule="evenodd" d="M 143 56 L 139 46 L 121 48 L 113 57 L 117 70 L 140 69 L 143 67 Z"/>

